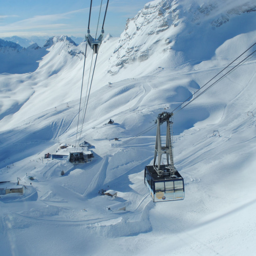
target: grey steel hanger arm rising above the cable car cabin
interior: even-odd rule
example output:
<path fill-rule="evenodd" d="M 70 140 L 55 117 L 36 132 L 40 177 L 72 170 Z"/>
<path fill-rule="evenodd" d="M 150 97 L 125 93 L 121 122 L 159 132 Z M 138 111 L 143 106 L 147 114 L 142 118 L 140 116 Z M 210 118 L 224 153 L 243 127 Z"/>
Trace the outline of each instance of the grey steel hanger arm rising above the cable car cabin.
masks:
<path fill-rule="evenodd" d="M 158 115 L 157 120 L 157 135 L 156 135 L 156 146 L 155 146 L 155 155 L 154 155 L 154 168 L 158 175 L 173 175 L 174 170 L 174 159 L 173 159 L 173 145 L 172 145 L 172 124 L 173 122 L 169 119 L 173 116 L 173 113 L 163 112 Z M 161 143 L 161 132 L 160 125 L 162 123 L 167 123 L 166 129 L 166 143 L 165 146 L 162 146 Z M 162 155 L 166 155 L 167 165 L 161 165 Z M 156 159 L 158 156 L 158 161 L 156 165 Z"/>

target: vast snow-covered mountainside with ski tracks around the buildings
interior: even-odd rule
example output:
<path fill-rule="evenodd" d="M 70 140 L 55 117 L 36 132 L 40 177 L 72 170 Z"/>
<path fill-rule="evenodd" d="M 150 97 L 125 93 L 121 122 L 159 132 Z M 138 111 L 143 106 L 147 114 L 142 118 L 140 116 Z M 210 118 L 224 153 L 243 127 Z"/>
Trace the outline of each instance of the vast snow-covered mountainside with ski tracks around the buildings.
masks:
<path fill-rule="evenodd" d="M 247 12 L 230 17 L 229 34 L 225 24 L 212 30 L 212 37 L 219 36 L 217 47 L 209 44 L 207 49 L 206 44 L 202 49 L 195 43 L 192 54 L 185 43 L 181 49 L 173 40 L 163 51 L 166 41 L 161 40 L 168 31 L 177 42 L 192 29 L 196 34 L 203 27 L 210 33 L 208 16 L 199 17 L 201 27 L 174 18 L 176 26 L 156 34 L 160 42 L 154 45 L 146 29 L 160 27 L 159 19 L 153 19 L 158 7 L 175 13 L 186 6 L 186 1 L 177 3 L 149 3 L 127 22 L 120 38 L 104 39 L 80 141 L 92 144 L 92 162 L 44 158 L 61 143 L 75 144 L 83 67 L 79 51 L 85 43 L 74 46 L 66 37 L 54 37 L 36 71 L 0 74 L 0 181 L 15 183 L 19 177 L 25 186 L 23 195 L 0 195 L 2 255 L 254 255 L 255 55 L 174 111 L 174 163 L 184 178 L 185 199 L 153 203 L 144 185 L 144 166 L 153 164 L 156 128 L 135 136 L 256 41 L 255 30 L 234 27 L 238 22 L 253 24 L 255 12 Z M 213 16 L 215 9 L 209 9 Z M 141 25 L 140 34 L 133 22 Z M 130 41 L 125 41 L 127 34 Z M 137 50 L 148 54 L 143 60 L 136 59 L 133 39 Z M 198 58 L 190 59 L 197 53 Z M 100 196 L 100 189 L 115 190 L 117 197 Z"/>

